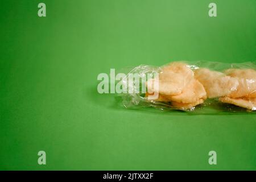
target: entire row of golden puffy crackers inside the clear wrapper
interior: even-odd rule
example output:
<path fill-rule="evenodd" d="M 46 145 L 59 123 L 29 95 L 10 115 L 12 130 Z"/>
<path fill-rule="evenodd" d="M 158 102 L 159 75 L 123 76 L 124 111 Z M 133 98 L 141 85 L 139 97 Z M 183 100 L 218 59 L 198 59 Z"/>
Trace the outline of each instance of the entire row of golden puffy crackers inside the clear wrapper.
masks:
<path fill-rule="evenodd" d="M 172 62 L 160 70 L 158 80 L 147 80 L 146 98 L 158 93 L 154 101 L 168 102 L 171 107 L 181 110 L 191 110 L 207 98 L 218 98 L 220 102 L 256 110 L 254 69 L 232 68 L 220 72 Z M 154 86 L 156 82 L 158 86 Z"/>

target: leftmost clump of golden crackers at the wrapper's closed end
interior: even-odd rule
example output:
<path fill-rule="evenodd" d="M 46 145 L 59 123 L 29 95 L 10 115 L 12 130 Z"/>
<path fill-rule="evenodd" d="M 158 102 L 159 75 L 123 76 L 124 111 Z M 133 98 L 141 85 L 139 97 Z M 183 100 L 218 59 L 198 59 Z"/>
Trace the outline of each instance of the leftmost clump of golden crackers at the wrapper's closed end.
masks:
<path fill-rule="evenodd" d="M 155 81 L 155 80 L 154 80 Z M 184 63 L 171 63 L 163 67 L 159 74 L 159 88 L 154 88 L 153 80 L 148 80 L 147 89 L 159 93 L 155 101 L 171 102 L 179 109 L 191 109 L 202 104 L 207 98 L 204 86 L 193 76 L 193 71 Z M 146 94 L 146 97 L 150 94 Z"/>

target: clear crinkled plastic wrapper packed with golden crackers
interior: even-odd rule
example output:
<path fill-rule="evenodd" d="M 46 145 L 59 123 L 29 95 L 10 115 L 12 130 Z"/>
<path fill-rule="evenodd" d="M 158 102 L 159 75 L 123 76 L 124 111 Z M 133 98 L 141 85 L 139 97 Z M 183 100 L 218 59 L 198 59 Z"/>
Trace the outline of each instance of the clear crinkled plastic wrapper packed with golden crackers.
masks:
<path fill-rule="evenodd" d="M 256 65 L 251 62 L 174 61 L 160 67 L 139 65 L 130 69 L 120 82 L 128 90 L 119 94 L 126 108 L 201 113 L 256 110 Z"/>

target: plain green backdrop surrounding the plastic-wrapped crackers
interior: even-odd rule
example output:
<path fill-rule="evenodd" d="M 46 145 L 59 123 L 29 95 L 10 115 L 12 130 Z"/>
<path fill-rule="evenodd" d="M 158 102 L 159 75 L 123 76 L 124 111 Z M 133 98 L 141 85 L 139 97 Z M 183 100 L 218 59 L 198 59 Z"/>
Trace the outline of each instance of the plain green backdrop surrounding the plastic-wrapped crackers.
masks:
<path fill-rule="evenodd" d="M 210 2 L 1 1 L 0 169 L 256 169 L 255 113 L 125 109 L 97 93 L 110 68 L 255 63 L 256 1 L 214 0 L 215 18 Z"/>

